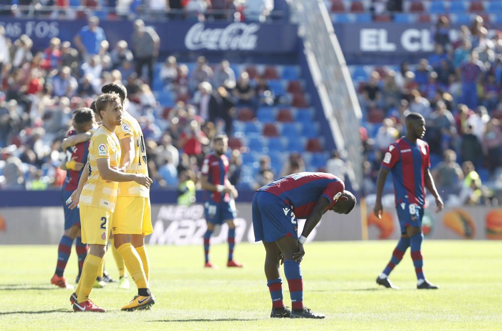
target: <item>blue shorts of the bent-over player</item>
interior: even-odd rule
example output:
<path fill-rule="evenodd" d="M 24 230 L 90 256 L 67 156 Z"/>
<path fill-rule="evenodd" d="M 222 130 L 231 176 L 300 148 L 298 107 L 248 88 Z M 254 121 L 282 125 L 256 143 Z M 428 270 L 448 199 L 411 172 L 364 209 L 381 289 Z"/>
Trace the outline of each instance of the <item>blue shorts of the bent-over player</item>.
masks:
<path fill-rule="evenodd" d="M 298 219 L 293 210 L 277 195 L 258 191 L 253 197 L 255 241 L 272 243 L 282 237 L 298 239 Z"/>

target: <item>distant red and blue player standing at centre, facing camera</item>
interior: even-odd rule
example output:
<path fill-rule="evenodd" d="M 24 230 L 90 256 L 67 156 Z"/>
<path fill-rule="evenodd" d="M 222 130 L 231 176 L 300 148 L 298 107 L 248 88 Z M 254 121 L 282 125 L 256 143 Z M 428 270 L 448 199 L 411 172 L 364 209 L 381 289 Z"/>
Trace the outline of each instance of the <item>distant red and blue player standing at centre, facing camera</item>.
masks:
<path fill-rule="evenodd" d="M 242 267 L 233 260 L 235 246 L 235 210 L 234 198 L 237 190 L 228 180 L 228 158 L 226 149 L 228 138 L 218 135 L 213 140 L 213 154 L 209 154 L 202 164 L 200 183 L 204 189 L 204 213 L 206 216 L 207 231 L 204 234 L 204 256 L 206 268 L 214 266 L 209 262 L 209 240 L 214 231 L 214 226 L 226 223 L 228 225 L 228 262 L 227 267 Z"/>

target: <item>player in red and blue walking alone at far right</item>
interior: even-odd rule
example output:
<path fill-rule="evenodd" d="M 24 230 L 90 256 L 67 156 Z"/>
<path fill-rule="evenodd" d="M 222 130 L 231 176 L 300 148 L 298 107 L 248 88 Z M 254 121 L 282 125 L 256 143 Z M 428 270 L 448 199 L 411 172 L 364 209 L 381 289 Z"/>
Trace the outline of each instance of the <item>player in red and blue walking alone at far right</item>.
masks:
<path fill-rule="evenodd" d="M 436 190 L 436 185 L 430 172 L 431 162 L 429 145 L 421 140 L 425 134 L 425 120 L 418 113 L 406 117 L 406 137 L 398 139 L 389 145 L 376 180 L 376 201 L 373 213 L 382 217 L 382 192 L 389 171 L 392 172 L 394 194 L 401 239 L 392 253 L 391 261 L 384 271 L 376 278 L 376 283 L 387 288 L 395 288 L 389 280 L 389 275 L 401 262 L 408 247 L 411 247 L 411 258 L 417 274 L 418 289 L 437 289 L 427 281 L 423 271 L 422 257 L 422 217 L 424 216 L 425 191 L 424 186 L 436 199 L 437 210 L 443 209 L 443 201 Z"/>

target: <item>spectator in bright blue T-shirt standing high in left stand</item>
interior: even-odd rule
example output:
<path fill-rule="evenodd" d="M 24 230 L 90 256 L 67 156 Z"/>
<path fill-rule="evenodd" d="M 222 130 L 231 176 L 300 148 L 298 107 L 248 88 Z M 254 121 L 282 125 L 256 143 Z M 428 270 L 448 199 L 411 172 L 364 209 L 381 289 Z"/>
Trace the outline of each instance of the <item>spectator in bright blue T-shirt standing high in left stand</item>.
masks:
<path fill-rule="evenodd" d="M 82 59 L 87 62 L 92 55 L 103 52 L 102 41 L 106 40 L 104 30 L 99 27 L 99 19 L 92 16 L 88 20 L 87 26 L 80 29 L 73 38 L 75 46 L 80 52 Z"/>

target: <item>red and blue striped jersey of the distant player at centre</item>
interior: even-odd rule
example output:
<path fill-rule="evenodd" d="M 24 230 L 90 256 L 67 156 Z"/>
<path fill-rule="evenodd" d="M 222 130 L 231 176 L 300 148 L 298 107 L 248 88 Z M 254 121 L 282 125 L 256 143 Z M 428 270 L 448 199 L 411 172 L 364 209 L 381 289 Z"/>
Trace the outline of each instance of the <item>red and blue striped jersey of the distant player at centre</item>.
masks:
<path fill-rule="evenodd" d="M 208 177 L 209 183 L 213 185 L 225 185 L 228 178 L 228 158 L 226 155 L 217 156 L 209 154 L 204 158 L 201 173 Z M 204 191 L 204 201 L 213 202 L 230 201 L 230 195 L 223 192 Z"/>

